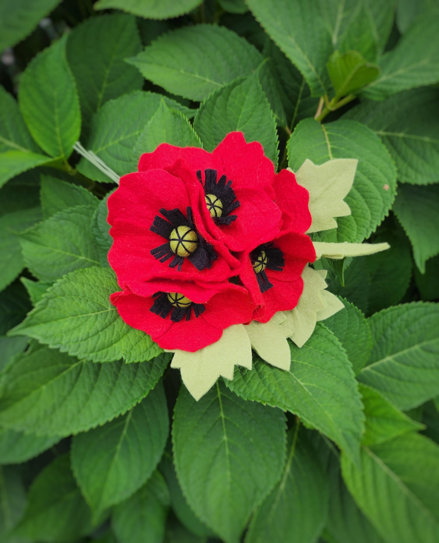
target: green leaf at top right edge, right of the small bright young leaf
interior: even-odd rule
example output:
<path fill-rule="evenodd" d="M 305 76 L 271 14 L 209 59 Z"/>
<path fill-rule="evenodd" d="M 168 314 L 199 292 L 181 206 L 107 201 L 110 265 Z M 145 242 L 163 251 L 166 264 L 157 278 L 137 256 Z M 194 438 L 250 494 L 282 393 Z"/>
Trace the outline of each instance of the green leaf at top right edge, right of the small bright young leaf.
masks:
<path fill-rule="evenodd" d="M 366 87 L 364 96 L 383 100 L 397 92 L 437 83 L 438 24 L 439 10 L 419 16 L 397 45 L 381 57 L 381 74 Z"/>

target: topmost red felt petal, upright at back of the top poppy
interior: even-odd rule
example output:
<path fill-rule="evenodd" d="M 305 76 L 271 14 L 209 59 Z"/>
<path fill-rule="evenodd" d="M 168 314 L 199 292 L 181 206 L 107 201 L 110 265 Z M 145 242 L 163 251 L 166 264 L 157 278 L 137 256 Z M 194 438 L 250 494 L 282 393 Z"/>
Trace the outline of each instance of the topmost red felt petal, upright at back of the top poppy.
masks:
<path fill-rule="evenodd" d="M 259 142 L 247 143 L 242 132 L 230 132 L 212 154 L 232 180 L 232 188 L 264 188 L 274 198 L 274 165 Z"/>

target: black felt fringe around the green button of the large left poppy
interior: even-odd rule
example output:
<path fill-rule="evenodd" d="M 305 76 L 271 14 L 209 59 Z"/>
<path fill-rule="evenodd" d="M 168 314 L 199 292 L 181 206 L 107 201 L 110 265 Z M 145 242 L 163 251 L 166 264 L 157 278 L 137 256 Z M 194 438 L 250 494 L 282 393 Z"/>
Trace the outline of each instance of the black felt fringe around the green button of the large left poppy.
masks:
<path fill-rule="evenodd" d="M 191 255 L 187 257 L 179 256 L 171 249 L 169 238 L 174 229 L 178 228 L 179 226 L 189 226 L 191 230 L 196 231 L 192 218 L 192 208 L 186 207 L 187 218 L 178 208 L 166 210 L 164 207 L 162 207 L 160 213 L 167 220 L 159 215 L 156 215 L 149 230 L 165 238 L 166 243 L 163 243 L 162 245 L 159 245 L 159 247 L 151 250 L 151 254 L 154 256 L 154 258 L 160 260 L 160 262 L 166 262 L 172 258 L 169 267 L 175 268 L 178 266 L 178 271 L 181 271 L 184 258 L 187 258 L 187 260 L 189 260 L 198 271 L 202 271 L 205 268 L 210 268 L 218 258 L 218 255 L 214 251 L 212 245 L 206 242 L 198 232 L 198 247 Z"/>

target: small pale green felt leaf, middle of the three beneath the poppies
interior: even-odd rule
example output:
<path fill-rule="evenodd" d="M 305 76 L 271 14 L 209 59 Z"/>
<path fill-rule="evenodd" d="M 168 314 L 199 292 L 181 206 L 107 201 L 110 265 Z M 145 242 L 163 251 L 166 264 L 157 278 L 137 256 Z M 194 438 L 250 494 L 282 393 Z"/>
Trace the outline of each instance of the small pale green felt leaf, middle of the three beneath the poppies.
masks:
<path fill-rule="evenodd" d="M 279 312 L 275 313 L 268 323 L 262 324 L 254 320 L 244 326 L 244 329 L 252 348 L 262 359 L 276 368 L 288 371 L 291 351 L 286 338 L 291 336 L 293 330 L 285 324 L 286 316 Z"/>

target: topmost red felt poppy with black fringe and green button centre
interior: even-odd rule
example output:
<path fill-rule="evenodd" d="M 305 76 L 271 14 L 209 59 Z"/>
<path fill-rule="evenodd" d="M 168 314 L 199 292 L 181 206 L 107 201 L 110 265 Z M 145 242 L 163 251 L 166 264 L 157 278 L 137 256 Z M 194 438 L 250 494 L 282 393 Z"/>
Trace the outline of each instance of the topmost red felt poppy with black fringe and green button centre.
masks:
<path fill-rule="evenodd" d="M 195 224 L 209 243 L 220 241 L 231 251 L 246 251 L 279 227 L 273 163 L 261 144 L 246 143 L 242 132 L 228 134 L 212 153 L 162 143 L 140 157 L 139 171 L 155 168 L 184 181 Z"/>

